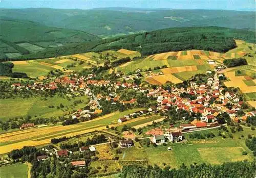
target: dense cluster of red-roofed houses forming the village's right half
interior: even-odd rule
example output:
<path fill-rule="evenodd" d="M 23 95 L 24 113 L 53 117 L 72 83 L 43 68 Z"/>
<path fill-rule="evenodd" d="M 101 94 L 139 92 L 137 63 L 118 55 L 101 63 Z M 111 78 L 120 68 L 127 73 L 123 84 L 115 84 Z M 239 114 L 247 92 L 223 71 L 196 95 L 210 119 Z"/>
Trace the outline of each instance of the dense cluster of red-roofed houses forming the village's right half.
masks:
<path fill-rule="evenodd" d="M 237 114 L 243 101 L 240 101 L 237 94 L 232 91 L 223 93 L 224 88 L 219 86 L 221 75 L 216 74 L 214 78 L 208 78 L 207 83 L 200 85 L 190 82 L 190 87 L 186 90 L 184 88 L 172 88 L 172 92 L 169 92 L 158 87 L 149 90 L 146 95 L 156 98 L 157 111 L 167 112 L 171 107 L 175 107 L 177 112 L 185 110 L 189 113 L 200 113 L 200 122 L 197 125 L 194 124 L 197 128 L 210 126 L 206 124 L 216 122 L 216 117 L 223 112 L 228 113 L 233 121 L 246 121 L 247 116 L 249 116 L 248 113 L 240 117 Z M 181 94 L 184 96 L 181 97 Z M 195 99 L 190 99 L 191 96 Z"/>

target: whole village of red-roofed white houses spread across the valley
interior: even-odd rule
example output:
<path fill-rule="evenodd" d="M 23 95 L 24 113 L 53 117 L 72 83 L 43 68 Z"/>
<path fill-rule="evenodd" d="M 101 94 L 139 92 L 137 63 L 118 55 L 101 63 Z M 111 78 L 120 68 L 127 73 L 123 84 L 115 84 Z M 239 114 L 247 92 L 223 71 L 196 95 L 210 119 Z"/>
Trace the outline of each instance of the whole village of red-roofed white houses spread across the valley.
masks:
<path fill-rule="evenodd" d="M 103 110 L 100 105 L 103 100 L 109 102 L 110 105 L 119 103 L 123 106 L 129 105 L 135 107 L 138 98 L 134 97 L 129 100 L 124 100 L 119 95 L 119 92 L 125 90 L 140 92 L 146 96 L 146 98 L 153 100 L 156 105 L 123 115 L 113 124 L 125 124 L 135 118 L 148 115 L 161 115 L 163 119 L 167 120 L 170 110 L 181 113 L 179 124 L 175 126 L 173 123 L 169 123 L 167 127 L 163 127 L 160 124 L 160 126 L 158 125 L 156 128 L 146 129 L 144 135 L 147 135 L 147 137 L 135 135 L 134 131 L 136 131 L 136 129 L 130 128 L 122 132 L 123 137 L 108 139 L 108 141 L 99 144 L 116 143 L 119 148 L 125 149 L 135 146 L 135 142 L 138 140 L 150 139 L 150 143 L 155 145 L 166 145 L 170 143 L 166 149 L 172 150 L 172 143 L 186 142 L 183 136 L 184 133 L 220 128 L 220 126 L 225 125 L 226 122 L 246 123 L 247 117 L 256 115 L 255 111 L 246 113 L 240 112 L 246 105 L 245 101 L 241 100 L 238 92 L 221 87 L 220 83 L 222 81 L 220 81 L 220 79 L 223 79 L 222 73 L 211 73 L 211 71 L 209 71 L 207 74 L 206 82 L 190 81 L 186 89 L 176 86 L 169 87 L 169 89 L 158 86 L 153 89 L 129 82 L 93 80 L 95 74 L 92 73 L 87 77 L 61 77 L 48 84 L 34 83 L 34 85 L 22 86 L 19 83 L 14 83 L 11 87 L 15 90 L 35 91 L 56 90 L 58 87 L 65 87 L 67 91 L 69 91 L 67 96 L 78 94 L 86 95 L 90 97 L 89 107 L 85 110 L 79 109 L 70 114 L 72 119 L 78 120 L 81 118 L 90 120 L 99 116 Z M 106 88 L 108 94 L 94 93 L 95 87 Z M 223 113 L 225 113 L 228 118 L 219 117 L 223 115 Z M 189 116 L 189 119 L 186 118 L 187 116 Z M 228 120 L 229 118 L 230 120 Z M 34 123 L 24 123 L 20 126 L 20 130 L 35 128 L 35 126 Z M 147 128 L 147 126 L 148 125 L 144 125 L 143 128 Z M 108 126 L 106 129 L 108 129 Z M 113 130 L 108 130 L 111 134 L 114 134 L 114 132 L 112 132 Z M 97 151 L 94 145 L 81 146 L 77 147 L 76 150 L 77 149 L 79 149 L 78 152 L 80 153 L 84 151 Z M 57 147 L 52 147 L 51 151 L 47 148 L 42 148 L 42 151 L 44 154 L 37 156 L 37 161 L 44 161 L 53 156 L 56 158 L 69 158 L 70 155 L 74 154 L 72 150 L 59 149 Z M 87 164 L 84 159 L 76 159 L 76 161 L 71 161 L 70 163 L 74 167 L 84 167 Z"/>

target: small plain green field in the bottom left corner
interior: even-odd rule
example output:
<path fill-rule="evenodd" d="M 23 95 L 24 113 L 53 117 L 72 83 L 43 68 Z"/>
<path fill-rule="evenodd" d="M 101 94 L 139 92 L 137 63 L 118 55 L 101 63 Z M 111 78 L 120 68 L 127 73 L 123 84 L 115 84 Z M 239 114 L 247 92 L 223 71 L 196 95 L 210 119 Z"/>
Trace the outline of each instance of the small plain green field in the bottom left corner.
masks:
<path fill-rule="evenodd" d="M 0 178 L 28 178 L 28 166 L 22 163 L 0 167 Z"/>

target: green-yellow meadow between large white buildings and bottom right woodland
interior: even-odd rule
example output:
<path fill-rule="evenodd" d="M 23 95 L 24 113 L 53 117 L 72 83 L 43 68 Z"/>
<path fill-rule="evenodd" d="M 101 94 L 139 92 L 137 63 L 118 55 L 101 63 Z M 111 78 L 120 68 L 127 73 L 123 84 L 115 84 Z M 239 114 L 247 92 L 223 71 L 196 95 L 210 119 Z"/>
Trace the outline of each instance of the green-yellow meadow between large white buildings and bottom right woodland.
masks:
<path fill-rule="evenodd" d="M 228 138 L 228 136 L 226 139 L 218 136 L 218 129 L 197 132 L 204 134 L 212 132 L 216 135 L 212 139 L 193 140 L 189 139 L 188 135 L 190 133 L 187 133 L 184 134 L 188 140 L 187 143 L 168 143 L 167 146 L 158 145 L 157 147 L 144 145 L 142 148 L 137 146 L 124 148 L 119 158 L 130 161 L 148 160 L 149 164 L 157 164 L 160 167 L 164 167 L 163 163 L 165 163 L 172 168 L 178 168 L 182 163 L 190 166 L 190 164 L 194 163 L 222 164 L 241 160 L 251 161 L 253 160 L 252 152 L 246 147 L 245 139 L 248 134 L 255 135 L 255 132 L 249 128 L 243 129 L 244 131 L 242 132 L 232 134 L 233 139 Z M 241 137 L 241 135 L 244 135 L 244 137 Z M 173 150 L 168 151 L 168 146 L 171 146 Z M 242 151 L 247 151 L 248 155 L 242 155 Z"/>

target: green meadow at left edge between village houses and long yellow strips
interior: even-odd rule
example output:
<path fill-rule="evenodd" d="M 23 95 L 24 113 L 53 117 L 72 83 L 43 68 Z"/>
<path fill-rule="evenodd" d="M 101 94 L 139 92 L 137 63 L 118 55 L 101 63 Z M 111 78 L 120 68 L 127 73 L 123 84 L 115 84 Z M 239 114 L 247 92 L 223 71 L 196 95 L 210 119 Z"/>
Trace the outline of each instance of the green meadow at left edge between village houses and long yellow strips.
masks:
<path fill-rule="evenodd" d="M 83 103 L 73 105 L 74 100 L 82 99 Z M 47 98 L 47 100 L 42 100 L 40 97 L 31 98 L 9 98 L 1 99 L 0 107 L 5 108 L 6 111 L 1 112 L 1 120 L 7 120 L 9 118 L 15 117 L 25 117 L 25 116 L 38 116 L 38 117 L 56 117 L 61 116 L 74 109 L 80 109 L 88 103 L 88 98 L 86 96 L 75 97 L 69 101 L 68 99 L 54 96 L 52 98 Z M 65 106 L 63 109 L 57 109 L 57 106 L 62 104 Z M 49 106 L 54 106 L 54 108 L 49 108 Z"/>

